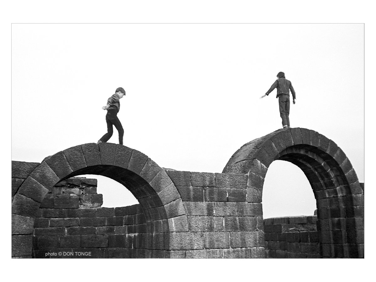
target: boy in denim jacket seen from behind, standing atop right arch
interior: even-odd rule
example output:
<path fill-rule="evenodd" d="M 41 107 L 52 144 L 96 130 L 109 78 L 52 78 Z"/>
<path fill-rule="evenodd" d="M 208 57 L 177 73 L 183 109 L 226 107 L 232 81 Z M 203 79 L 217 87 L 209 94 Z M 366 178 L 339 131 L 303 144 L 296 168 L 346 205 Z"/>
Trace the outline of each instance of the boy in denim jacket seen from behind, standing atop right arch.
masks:
<path fill-rule="evenodd" d="M 264 98 L 265 96 L 268 96 L 271 91 L 274 90 L 274 88 L 277 88 L 277 96 L 278 98 L 278 104 L 279 104 L 279 114 L 282 118 L 282 126 L 283 128 L 290 127 L 290 90 L 291 94 L 293 94 L 293 104 L 296 103 L 296 97 L 295 97 L 295 90 L 293 88 L 293 85 L 291 84 L 290 80 L 287 80 L 285 77 L 285 73 L 280 71 L 277 74 L 277 80 L 271 85 L 270 89 L 265 93 L 265 95 L 261 96 L 261 98 Z"/>

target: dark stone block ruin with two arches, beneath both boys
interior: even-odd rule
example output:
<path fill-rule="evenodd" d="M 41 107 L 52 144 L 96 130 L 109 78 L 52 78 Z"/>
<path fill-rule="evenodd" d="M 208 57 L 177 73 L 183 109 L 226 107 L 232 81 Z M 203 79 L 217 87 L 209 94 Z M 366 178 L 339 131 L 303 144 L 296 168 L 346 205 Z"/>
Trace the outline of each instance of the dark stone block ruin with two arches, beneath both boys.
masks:
<path fill-rule="evenodd" d="M 263 219 L 263 183 L 277 159 L 307 176 L 316 237 L 286 235 L 282 221 Z M 94 180 L 73 178 L 82 174 L 122 183 L 139 204 L 101 208 L 95 185 L 85 183 Z M 334 141 L 304 128 L 244 144 L 223 173 L 168 170 L 126 146 L 82 144 L 41 163 L 12 161 L 12 257 L 362 258 L 363 187 Z M 99 205 L 80 208 L 85 197 Z"/>

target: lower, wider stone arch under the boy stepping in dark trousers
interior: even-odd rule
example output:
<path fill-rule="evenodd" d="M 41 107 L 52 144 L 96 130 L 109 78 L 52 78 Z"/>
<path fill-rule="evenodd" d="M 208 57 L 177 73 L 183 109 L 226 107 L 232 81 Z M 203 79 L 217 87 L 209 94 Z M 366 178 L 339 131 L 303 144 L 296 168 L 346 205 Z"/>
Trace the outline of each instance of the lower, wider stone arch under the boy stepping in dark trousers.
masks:
<path fill-rule="evenodd" d="M 182 199 L 165 170 L 143 153 L 113 143 L 82 144 L 45 158 L 13 197 L 12 221 L 29 218 L 33 224 L 47 192 L 61 180 L 81 174 L 106 176 L 126 186 L 145 214 L 147 233 L 188 231 Z M 31 234 L 30 224 L 21 233 Z M 23 243 L 30 244 L 31 250 L 31 238 Z M 159 244 L 168 246 L 168 236 Z"/>

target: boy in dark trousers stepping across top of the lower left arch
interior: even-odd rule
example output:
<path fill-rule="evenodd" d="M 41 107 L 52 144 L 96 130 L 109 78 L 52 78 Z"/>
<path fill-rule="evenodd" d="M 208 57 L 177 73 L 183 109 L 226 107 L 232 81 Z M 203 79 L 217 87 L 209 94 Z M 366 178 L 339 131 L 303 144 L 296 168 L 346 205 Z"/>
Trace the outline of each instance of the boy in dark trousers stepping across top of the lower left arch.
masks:
<path fill-rule="evenodd" d="M 114 125 L 119 133 L 119 144 L 123 145 L 124 129 L 117 117 L 117 113 L 120 111 L 120 99 L 124 96 L 125 90 L 122 87 L 119 87 L 115 90 L 115 94 L 108 98 L 107 105 L 102 107 L 102 109 L 107 110 L 107 133 L 98 140 L 97 144 L 107 142 L 108 139 L 111 138 L 112 133 L 114 132 L 112 125 Z"/>

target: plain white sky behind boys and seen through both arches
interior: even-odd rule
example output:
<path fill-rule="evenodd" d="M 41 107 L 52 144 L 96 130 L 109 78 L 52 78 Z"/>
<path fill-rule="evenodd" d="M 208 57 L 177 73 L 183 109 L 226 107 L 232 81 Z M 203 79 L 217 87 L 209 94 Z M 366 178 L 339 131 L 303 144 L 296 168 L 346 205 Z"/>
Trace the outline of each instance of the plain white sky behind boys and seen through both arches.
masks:
<path fill-rule="evenodd" d="M 364 182 L 363 24 L 12 24 L 12 160 L 97 142 L 123 87 L 124 145 L 161 167 L 221 172 L 282 127 L 276 90 L 259 99 L 279 71 L 296 90 L 291 127 L 334 140 Z M 99 180 L 103 206 L 135 203 L 111 183 Z M 312 215 L 302 171 L 273 162 L 263 206 L 264 218 Z"/>

